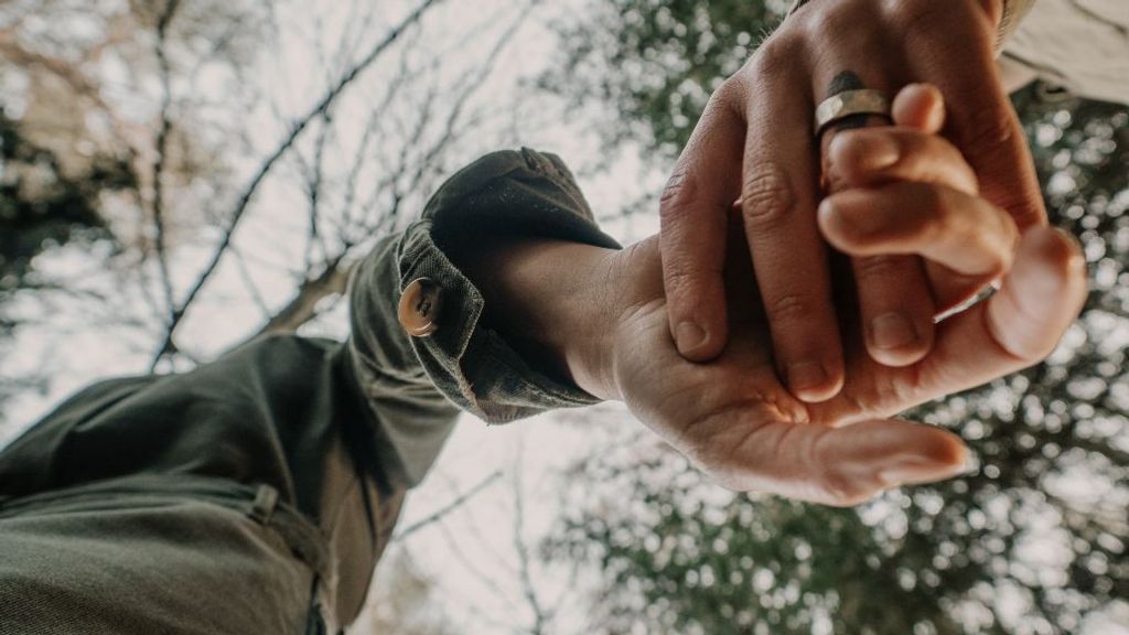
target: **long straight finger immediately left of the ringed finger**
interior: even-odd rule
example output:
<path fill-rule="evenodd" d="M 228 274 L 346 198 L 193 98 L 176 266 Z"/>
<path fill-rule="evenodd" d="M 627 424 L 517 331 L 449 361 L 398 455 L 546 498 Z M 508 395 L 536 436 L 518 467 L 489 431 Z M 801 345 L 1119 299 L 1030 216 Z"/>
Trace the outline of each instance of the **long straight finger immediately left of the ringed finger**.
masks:
<path fill-rule="evenodd" d="M 763 49 L 762 49 L 763 50 Z M 789 391 L 822 401 L 842 385 L 842 348 L 828 253 L 815 225 L 812 95 L 767 66 L 750 90 L 742 188 L 745 236 Z"/>

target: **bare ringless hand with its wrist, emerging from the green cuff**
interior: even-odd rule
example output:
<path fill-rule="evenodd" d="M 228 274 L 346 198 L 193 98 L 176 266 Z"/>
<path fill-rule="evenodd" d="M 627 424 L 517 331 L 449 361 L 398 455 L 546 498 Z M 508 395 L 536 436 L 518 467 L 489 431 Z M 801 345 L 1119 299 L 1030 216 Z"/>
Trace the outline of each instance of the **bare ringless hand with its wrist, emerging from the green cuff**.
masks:
<path fill-rule="evenodd" d="M 844 321 L 846 380 L 820 403 L 797 399 L 778 375 L 765 303 L 747 293 L 739 211 L 727 219 L 723 254 L 730 338 L 708 364 L 682 357 L 671 336 L 657 237 L 619 252 L 499 240 L 487 256 L 453 259 L 487 297 L 489 328 L 550 374 L 624 401 L 726 487 L 849 505 L 947 478 L 964 466 L 960 438 L 890 417 L 1049 355 L 1082 308 L 1085 275 L 1078 246 L 1059 232 L 1029 229 L 1013 250 L 1015 223 L 966 191 L 960 153 L 926 125 L 943 116 L 939 102 L 925 103 L 895 108 L 893 127 L 832 141 L 839 190 L 821 206 L 821 236 L 850 256 L 920 256 L 938 296 L 1003 276 L 1000 290 L 938 324 L 931 348 L 902 366 L 876 362 L 865 329 Z M 881 149 L 891 143 L 893 163 Z M 838 308 L 856 312 L 847 302 Z"/>

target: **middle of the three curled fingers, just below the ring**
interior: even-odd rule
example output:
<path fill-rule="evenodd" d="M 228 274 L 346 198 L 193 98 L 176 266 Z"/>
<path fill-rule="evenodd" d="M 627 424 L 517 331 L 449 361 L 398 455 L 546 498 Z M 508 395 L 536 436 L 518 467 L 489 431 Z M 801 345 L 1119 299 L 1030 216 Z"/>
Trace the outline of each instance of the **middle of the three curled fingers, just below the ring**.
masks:
<path fill-rule="evenodd" d="M 937 183 L 977 194 L 975 173 L 951 142 L 912 128 L 864 128 L 835 134 L 828 149 L 830 180 L 839 189 L 891 181 Z"/>

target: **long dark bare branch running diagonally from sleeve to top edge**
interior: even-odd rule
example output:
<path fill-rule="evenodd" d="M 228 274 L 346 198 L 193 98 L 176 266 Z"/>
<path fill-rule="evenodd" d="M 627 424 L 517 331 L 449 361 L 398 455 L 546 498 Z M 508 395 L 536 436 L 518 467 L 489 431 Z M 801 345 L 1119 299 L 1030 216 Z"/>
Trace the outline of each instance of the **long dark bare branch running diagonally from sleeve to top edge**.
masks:
<path fill-rule="evenodd" d="M 392 46 L 400 36 L 413 24 L 422 19 L 423 15 L 434 6 L 436 6 L 441 0 L 423 0 L 411 14 L 409 14 L 403 20 L 400 21 L 388 34 L 380 40 L 373 49 L 361 59 L 359 62 L 355 63 L 339 80 L 338 82 L 322 97 L 322 99 L 303 118 L 300 118 L 290 129 L 290 132 L 282 139 L 278 147 L 272 151 L 260 165 L 259 169 L 252 176 L 251 181 L 244 188 L 243 193 L 239 195 L 238 201 L 235 205 L 230 217 L 227 220 L 227 226 L 224 228 L 222 235 L 220 236 L 219 245 L 217 245 L 216 251 L 204 266 L 203 271 L 196 278 L 195 284 L 189 290 L 187 295 L 172 312 L 172 319 L 166 327 L 165 339 L 154 356 L 152 364 L 150 364 L 150 371 L 155 369 L 157 364 L 165 357 L 165 355 L 174 351 L 173 336 L 176 328 L 180 325 L 181 321 L 184 319 L 185 312 L 200 295 L 200 290 L 203 289 L 204 285 L 211 279 L 212 275 L 216 272 L 216 268 L 219 266 L 220 260 L 224 259 L 224 254 L 227 251 L 228 245 L 231 244 L 231 237 L 235 230 L 239 226 L 239 221 L 243 219 L 251 200 L 254 198 L 255 193 L 259 191 L 260 185 L 270 174 L 274 164 L 278 163 L 283 155 L 286 155 L 290 148 L 295 145 L 298 138 L 301 136 L 306 127 L 309 125 L 312 121 L 316 118 L 323 115 L 336 99 L 345 92 L 347 88 L 364 72 L 368 69 L 380 55 Z"/>

